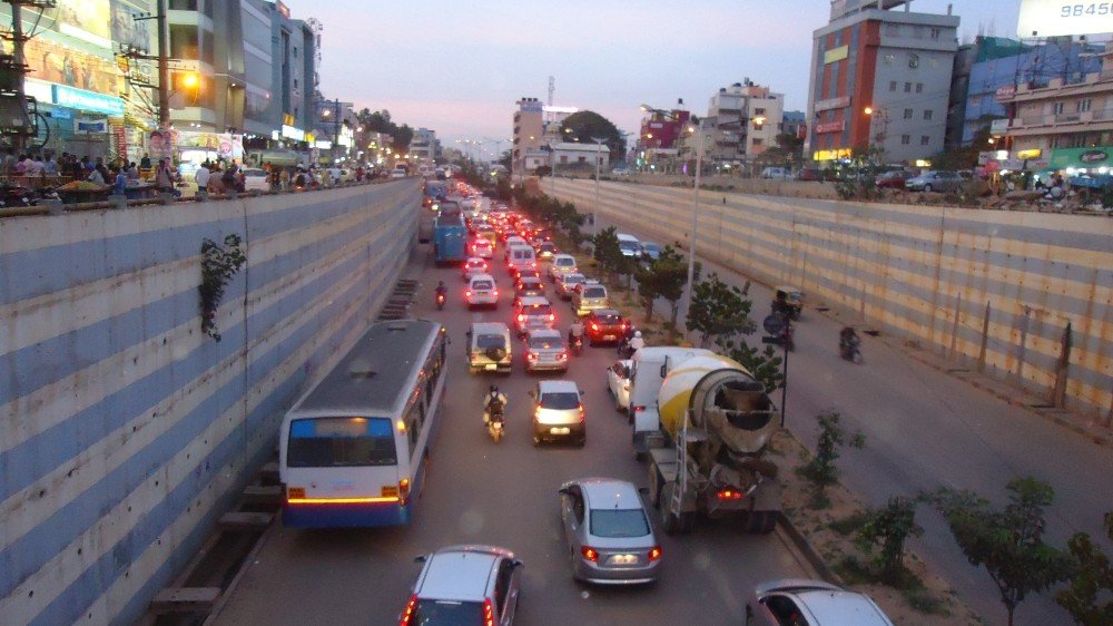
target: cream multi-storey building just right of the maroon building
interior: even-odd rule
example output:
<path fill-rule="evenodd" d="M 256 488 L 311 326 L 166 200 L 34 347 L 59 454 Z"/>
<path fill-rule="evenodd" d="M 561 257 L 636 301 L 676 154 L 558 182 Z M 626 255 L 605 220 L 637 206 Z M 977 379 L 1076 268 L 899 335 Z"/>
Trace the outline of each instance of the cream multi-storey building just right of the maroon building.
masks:
<path fill-rule="evenodd" d="M 784 94 L 749 78 L 720 88 L 708 101 L 705 159 L 748 163 L 776 146 L 784 110 Z"/>

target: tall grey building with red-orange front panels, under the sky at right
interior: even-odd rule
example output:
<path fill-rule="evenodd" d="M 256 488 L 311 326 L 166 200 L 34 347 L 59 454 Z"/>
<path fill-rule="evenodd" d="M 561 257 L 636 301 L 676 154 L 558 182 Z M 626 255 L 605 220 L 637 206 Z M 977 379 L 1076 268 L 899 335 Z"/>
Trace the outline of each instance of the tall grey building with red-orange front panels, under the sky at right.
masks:
<path fill-rule="evenodd" d="M 957 29 L 949 10 L 917 13 L 906 0 L 833 2 L 829 23 L 812 33 L 811 158 L 873 147 L 910 162 L 940 151 Z"/>

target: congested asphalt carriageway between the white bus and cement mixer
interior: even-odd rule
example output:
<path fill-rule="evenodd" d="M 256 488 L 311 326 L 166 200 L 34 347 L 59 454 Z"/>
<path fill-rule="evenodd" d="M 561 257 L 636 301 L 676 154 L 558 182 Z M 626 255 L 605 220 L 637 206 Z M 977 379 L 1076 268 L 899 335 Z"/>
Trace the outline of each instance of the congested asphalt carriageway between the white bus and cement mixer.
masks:
<path fill-rule="evenodd" d="M 422 246 L 424 254 L 426 246 Z M 570 378 L 584 394 L 588 442 L 582 449 L 534 448 L 528 392 L 543 376 L 521 363 L 509 378 L 467 373 L 464 333 L 473 321 L 509 322 L 509 300 L 496 311 L 469 312 L 459 270 L 411 267 L 422 290 L 415 316 L 442 321 L 450 346 L 449 392 L 426 489 L 410 527 L 306 531 L 275 528 L 217 623 L 392 624 L 408 598 L 416 555 L 452 544 L 495 544 L 525 564 L 519 624 L 740 624 L 745 597 L 760 581 L 806 573 L 777 535 L 751 536 L 729 522 L 699 524 L 692 535 L 660 534 L 662 579 L 647 588 L 593 588 L 572 581 L 555 491 L 564 480 L 607 476 L 643 487 L 647 469 L 633 460 L 630 427 L 614 410 L 604 369 L 610 348 L 584 348 Z M 451 287 L 449 306 L 432 306 L 432 288 Z M 496 278 L 505 291 L 504 270 Z M 457 285 L 460 285 L 457 287 Z M 550 295 L 552 287 L 550 286 Z M 554 301 L 555 302 L 555 301 Z M 572 313 L 556 306 L 559 325 Z M 482 427 L 481 402 L 491 381 L 510 398 L 506 438 L 495 444 Z"/>

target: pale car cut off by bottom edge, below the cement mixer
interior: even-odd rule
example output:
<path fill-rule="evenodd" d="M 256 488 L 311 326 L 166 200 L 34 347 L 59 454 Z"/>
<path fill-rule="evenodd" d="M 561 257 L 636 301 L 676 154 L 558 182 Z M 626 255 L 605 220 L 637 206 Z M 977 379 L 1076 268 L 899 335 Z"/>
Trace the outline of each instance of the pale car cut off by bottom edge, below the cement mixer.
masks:
<path fill-rule="evenodd" d="M 893 626 L 874 600 L 821 580 L 786 578 L 758 585 L 746 604 L 748 626 Z"/>

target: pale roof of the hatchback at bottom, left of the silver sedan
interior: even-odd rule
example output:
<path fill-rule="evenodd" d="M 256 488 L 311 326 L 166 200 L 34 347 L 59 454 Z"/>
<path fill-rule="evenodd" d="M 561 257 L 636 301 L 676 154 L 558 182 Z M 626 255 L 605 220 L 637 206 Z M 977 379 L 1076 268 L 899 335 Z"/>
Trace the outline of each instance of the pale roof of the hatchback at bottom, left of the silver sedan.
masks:
<path fill-rule="evenodd" d="M 450 546 L 429 555 L 420 597 L 445 600 L 482 600 L 491 570 L 500 557 L 513 554 L 493 546 Z"/>

